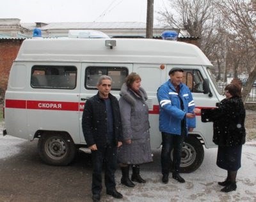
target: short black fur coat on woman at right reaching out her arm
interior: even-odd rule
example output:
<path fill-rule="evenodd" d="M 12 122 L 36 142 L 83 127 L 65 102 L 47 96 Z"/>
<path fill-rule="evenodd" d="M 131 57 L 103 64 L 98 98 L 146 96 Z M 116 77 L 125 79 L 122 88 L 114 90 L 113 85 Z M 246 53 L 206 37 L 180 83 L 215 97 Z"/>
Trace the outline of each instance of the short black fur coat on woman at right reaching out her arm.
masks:
<path fill-rule="evenodd" d="M 245 143 L 245 109 L 239 97 L 223 99 L 218 108 L 202 109 L 202 122 L 213 122 L 213 142 L 219 146 L 237 146 Z"/>

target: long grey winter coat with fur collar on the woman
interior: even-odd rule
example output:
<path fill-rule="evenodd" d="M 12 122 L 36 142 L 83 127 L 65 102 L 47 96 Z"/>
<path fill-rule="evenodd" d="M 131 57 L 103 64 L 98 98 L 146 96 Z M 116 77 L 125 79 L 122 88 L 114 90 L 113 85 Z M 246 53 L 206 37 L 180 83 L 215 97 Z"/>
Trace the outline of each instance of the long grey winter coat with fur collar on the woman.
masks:
<path fill-rule="evenodd" d="M 124 143 L 118 151 L 118 162 L 141 164 L 152 161 L 148 121 L 147 93 L 140 88 L 138 96 L 124 83 L 120 92 L 119 106 Z M 131 139 L 127 144 L 125 140 Z"/>

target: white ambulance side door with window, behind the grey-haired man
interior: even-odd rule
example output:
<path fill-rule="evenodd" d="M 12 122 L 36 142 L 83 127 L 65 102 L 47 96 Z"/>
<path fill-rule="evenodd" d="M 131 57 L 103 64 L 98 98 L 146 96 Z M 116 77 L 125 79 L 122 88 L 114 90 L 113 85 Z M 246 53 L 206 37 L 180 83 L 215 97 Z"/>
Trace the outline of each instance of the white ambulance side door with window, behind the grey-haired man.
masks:
<path fill-rule="evenodd" d="M 81 143 L 85 143 L 82 129 L 84 103 L 97 94 L 97 82 L 100 76 L 108 75 L 112 78 L 111 94 L 119 99 L 120 89 L 125 77 L 131 73 L 132 64 L 122 63 L 83 63 L 81 72 L 81 88 L 79 95 L 79 130 Z"/>

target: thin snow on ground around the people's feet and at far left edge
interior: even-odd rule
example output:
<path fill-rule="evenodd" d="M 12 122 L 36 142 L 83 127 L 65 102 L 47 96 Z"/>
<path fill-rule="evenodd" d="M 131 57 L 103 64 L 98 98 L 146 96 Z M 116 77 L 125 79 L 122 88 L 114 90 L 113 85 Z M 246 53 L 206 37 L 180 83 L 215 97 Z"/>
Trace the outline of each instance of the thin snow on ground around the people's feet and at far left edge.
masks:
<path fill-rule="evenodd" d="M 0 159 L 7 159 L 20 152 L 19 144 L 26 140 L 0 135 Z M 243 146 L 242 168 L 237 175 L 237 191 L 220 192 L 218 182 L 225 180 L 226 171 L 216 166 L 217 148 L 205 149 L 202 166 L 193 173 L 182 173 L 186 183 L 173 180 L 170 173 L 169 183 L 161 182 L 160 149 L 154 150 L 154 162 L 141 166 L 141 177 L 146 184 L 136 184 L 129 188 L 120 184 L 121 172 L 116 171 L 116 189 L 123 199 L 109 198 L 102 194 L 101 201 L 127 202 L 170 202 L 170 201 L 256 201 L 256 141 Z"/>

